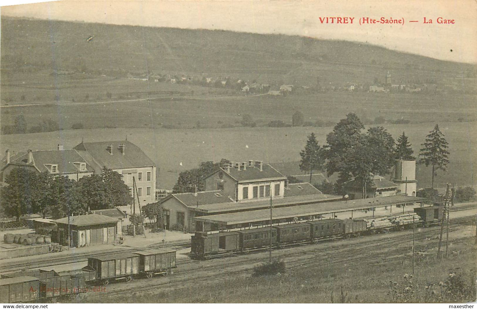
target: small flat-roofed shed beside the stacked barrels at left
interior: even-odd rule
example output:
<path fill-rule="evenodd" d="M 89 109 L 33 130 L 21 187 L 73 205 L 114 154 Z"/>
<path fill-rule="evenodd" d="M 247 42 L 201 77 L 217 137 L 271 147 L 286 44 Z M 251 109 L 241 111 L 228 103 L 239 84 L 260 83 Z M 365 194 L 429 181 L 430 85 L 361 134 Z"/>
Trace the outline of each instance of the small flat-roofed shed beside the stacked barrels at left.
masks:
<path fill-rule="evenodd" d="M 70 246 L 84 247 L 102 244 L 113 244 L 118 234 L 118 219 L 108 216 L 89 214 L 73 216 L 69 220 Z M 54 220 L 58 229 L 58 241 L 68 245 L 68 217 Z"/>

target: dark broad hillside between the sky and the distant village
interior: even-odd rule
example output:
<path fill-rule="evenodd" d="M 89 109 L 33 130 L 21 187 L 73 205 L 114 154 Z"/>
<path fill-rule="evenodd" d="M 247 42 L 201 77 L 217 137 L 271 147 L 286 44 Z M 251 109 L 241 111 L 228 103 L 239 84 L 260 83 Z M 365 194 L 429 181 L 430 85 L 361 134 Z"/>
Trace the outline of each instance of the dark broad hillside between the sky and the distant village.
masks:
<path fill-rule="evenodd" d="M 87 41 L 90 36 L 93 40 Z M 184 73 L 322 85 L 384 80 L 451 83 L 472 65 L 336 40 L 2 17 L 1 66 Z M 357 38 L 359 40 L 359 38 Z M 5 80 L 4 80 L 5 79 Z M 9 83 L 10 74 L 2 83 Z M 465 81 L 464 81 L 465 82 Z"/>

